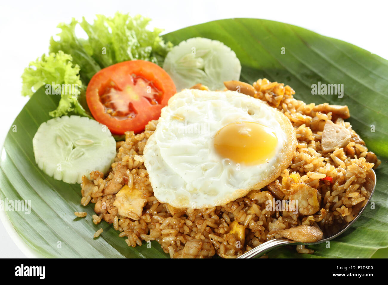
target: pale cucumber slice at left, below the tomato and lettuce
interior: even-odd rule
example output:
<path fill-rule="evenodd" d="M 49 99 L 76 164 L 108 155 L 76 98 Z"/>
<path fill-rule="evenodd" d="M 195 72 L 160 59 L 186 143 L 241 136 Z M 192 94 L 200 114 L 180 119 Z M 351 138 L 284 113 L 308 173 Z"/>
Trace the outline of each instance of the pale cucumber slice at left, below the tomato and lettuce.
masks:
<path fill-rule="evenodd" d="M 109 129 L 88 117 L 50 119 L 39 126 L 32 144 L 38 167 L 66 183 L 81 183 L 93 170 L 106 173 L 116 156 Z"/>

